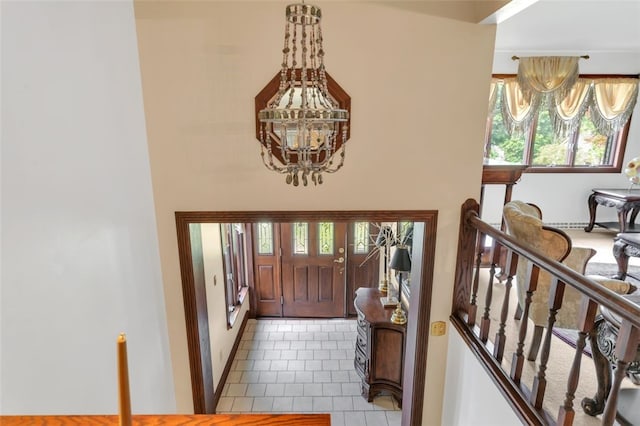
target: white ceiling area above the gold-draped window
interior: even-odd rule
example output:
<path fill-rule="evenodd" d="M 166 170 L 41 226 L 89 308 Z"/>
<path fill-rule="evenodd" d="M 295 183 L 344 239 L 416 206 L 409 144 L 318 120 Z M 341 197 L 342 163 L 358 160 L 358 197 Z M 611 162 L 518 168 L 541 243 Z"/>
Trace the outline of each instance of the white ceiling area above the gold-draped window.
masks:
<path fill-rule="evenodd" d="M 640 0 L 538 0 L 497 26 L 496 53 L 602 52 L 640 54 Z"/>

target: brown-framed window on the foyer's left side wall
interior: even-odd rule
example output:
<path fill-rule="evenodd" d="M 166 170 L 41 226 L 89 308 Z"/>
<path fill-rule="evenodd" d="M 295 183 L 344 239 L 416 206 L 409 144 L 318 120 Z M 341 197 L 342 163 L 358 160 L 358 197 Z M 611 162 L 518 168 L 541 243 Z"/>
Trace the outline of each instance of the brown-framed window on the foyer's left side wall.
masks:
<path fill-rule="evenodd" d="M 227 324 L 231 326 L 247 294 L 246 236 L 242 223 L 225 223 L 220 226 Z"/>

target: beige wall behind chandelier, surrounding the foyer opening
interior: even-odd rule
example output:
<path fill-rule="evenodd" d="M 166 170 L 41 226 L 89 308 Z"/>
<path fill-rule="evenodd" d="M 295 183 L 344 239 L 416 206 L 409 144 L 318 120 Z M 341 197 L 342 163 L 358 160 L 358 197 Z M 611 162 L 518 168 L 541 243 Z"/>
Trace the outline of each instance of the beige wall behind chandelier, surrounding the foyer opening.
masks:
<path fill-rule="evenodd" d="M 317 3 L 327 69 L 352 98 L 352 132 L 342 170 L 320 187 L 294 188 L 264 168 L 254 138 L 254 97 L 279 69 L 285 4 L 135 5 L 182 412 L 192 403 L 175 211 L 438 210 L 432 320 L 450 313 L 459 209 L 479 196 L 495 28 Z M 431 339 L 424 424 L 440 421 L 446 355 L 446 337 Z"/>

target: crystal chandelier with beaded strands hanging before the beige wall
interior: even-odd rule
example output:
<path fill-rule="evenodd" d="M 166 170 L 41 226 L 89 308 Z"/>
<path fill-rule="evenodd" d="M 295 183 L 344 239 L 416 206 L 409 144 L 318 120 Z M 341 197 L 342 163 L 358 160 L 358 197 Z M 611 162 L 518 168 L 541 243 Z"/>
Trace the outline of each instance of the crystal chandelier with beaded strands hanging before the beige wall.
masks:
<path fill-rule="evenodd" d="M 294 186 L 322 184 L 344 164 L 349 111 L 327 87 L 320 19 L 316 6 L 287 6 L 280 85 L 258 112 L 262 160 Z"/>

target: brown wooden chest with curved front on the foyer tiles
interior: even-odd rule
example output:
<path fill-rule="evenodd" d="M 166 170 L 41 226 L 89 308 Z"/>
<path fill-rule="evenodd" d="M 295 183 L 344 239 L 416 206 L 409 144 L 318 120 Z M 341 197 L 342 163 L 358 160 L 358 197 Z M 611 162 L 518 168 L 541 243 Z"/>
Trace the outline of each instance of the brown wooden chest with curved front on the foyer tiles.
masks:
<path fill-rule="evenodd" d="M 367 401 L 382 391 L 390 392 L 402 407 L 402 373 L 406 325 L 391 322 L 393 308 L 380 303 L 376 288 L 360 287 L 354 306 L 358 314 L 358 334 L 353 364 L 362 379 L 360 392 Z"/>

